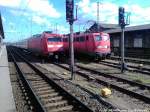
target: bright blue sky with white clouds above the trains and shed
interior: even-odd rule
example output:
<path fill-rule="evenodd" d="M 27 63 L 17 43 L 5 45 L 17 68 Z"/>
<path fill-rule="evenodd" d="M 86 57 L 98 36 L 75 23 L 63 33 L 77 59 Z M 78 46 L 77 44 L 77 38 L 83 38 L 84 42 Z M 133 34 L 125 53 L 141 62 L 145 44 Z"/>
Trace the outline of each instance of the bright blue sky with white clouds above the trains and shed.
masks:
<path fill-rule="evenodd" d="M 85 30 L 97 19 L 97 2 L 100 2 L 100 21 L 118 24 L 118 7 L 131 13 L 130 25 L 149 24 L 150 0 L 74 0 L 78 5 L 78 20 L 74 31 Z M 0 0 L 5 41 L 14 42 L 52 30 L 68 33 L 65 20 L 65 0 Z M 56 30 L 57 29 L 57 30 Z"/>

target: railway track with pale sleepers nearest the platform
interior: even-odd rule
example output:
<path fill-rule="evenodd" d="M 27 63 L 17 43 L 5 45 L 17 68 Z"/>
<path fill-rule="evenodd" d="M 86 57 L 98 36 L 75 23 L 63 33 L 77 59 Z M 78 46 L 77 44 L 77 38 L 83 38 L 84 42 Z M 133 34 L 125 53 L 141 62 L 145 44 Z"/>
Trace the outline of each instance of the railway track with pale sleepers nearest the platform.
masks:
<path fill-rule="evenodd" d="M 44 75 L 39 69 L 9 49 L 21 81 L 36 112 L 93 112 L 77 98 Z M 18 56 L 17 56 L 18 55 Z M 26 63 L 18 63 L 21 58 Z M 21 61 L 20 60 L 20 61 Z M 25 69 L 26 68 L 26 69 Z M 27 70 L 30 72 L 27 73 Z"/>

